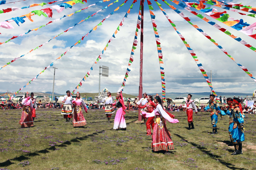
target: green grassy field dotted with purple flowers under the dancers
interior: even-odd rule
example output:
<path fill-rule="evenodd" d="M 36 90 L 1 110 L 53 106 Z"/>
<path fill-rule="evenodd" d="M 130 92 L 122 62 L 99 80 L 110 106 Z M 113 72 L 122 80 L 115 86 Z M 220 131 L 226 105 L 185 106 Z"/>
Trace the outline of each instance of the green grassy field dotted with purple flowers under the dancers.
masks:
<path fill-rule="evenodd" d="M 155 153 L 135 111 L 126 115 L 127 131 L 113 130 L 103 110 L 88 110 L 84 128 L 73 128 L 60 112 L 39 109 L 34 127 L 21 129 L 20 110 L 0 110 L 0 170 L 256 170 L 256 115 L 245 118 L 243 155 L 232 156 L 228 117 L 210 135 L 209 113 L 194 115 L 194 130 L 186 113 L 174 113 L 180 123 L 167 128 L 175 150 Z"/>

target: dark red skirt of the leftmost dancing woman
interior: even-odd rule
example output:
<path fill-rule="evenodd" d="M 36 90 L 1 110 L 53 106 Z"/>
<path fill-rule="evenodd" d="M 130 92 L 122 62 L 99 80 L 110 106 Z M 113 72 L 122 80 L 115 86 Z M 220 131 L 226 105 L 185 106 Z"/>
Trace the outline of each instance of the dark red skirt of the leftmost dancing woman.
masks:
<path fill-rule="evenodd" d="M 24 106 L 22 108 L 22 113 L 21 113 L 21 118 L 19 124 L 21 127 L 33 127 L 34 126 L 34 121 L 32 118 L 32 113 L 30 111 L 29 106 Z"/>

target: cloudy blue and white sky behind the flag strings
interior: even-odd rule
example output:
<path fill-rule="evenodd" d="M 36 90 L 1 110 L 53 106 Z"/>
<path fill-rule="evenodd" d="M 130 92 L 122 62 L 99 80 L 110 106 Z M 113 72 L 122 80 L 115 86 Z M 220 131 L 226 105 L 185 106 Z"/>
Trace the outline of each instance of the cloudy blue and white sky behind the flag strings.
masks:
<path fill-rule="evenodd" d="M 12 0 L 14 1 L 14 0 Z M 26 0 L 22 2 L 16 2 L 14 4 L 0 5 L 0 9 L 6 9 L 9 7 L 29 6 L 34 3 L 50 2 L 52 0 Z M 4 66 L 6 63 L 13 60 L 15 57 L 20 57 L 26 54 L 24 57 L 17 59 L 15 62 L 9 64 L 0 70 L 0 92 L 9 91 L 15 92 L 25 86 L 30 80 L 38 75 L 45 67 L 54 62 L 54 60 L 71 45 L 76 43 L 81 37 L 86 35 L 94 26 L 98 25 L 102 19 L 112 13 L 115 8 L 124 0 L 114 3 L 107 9 L 102 10 L 93 17 L 90 17 L 86 21 L 79 25 L 76 25 L 73 29 L 64 32 L 59 37 L 54 38 L 61 32 L 67 30 L 69 27 L 76 23 L 79 23 L 82 19 L 88 17 L 97 12 L 101 8 L 114 2 L 110 0 L 108 2 L 98 3 L 95 6 L 91 6 L 86 10 L 82 10 L 80 13 L 75 13 L 71 17 L 65 17 L 60 21 L 56 21 L 47 26 L 44 26 L 37 31 L 31 31 L 28 34 L 13 39 L 6 44 L 0 45 L 0 66 Z M 255 68 L 255 51 L 250 50 L 243 44 L 237 42 L 235 39 L 230 38 L 228 35 L 219 31 L 215 27 L 209 25 L 202 19 L 199 19 L 192 13 L 184 10 L 183 8 L 167 0 L 168 3 L 182 11 L 191 22 L 198 25 L 200 29 L 206 32 L 212 39 L 221 45 L 226 51 L 235 58 L 236 63 L 242 64 L 246 67 L 254 77 L 256 77 Z M 190 0 L 191 2 L 198 2 L 196 0 Z M 8 1 L 7 1 L 8 2 Z M 10 2 L 10 1 L 9 1 Z M 65 2 L 65 1 L 63 1 Z M 56 2 L 54 4 L 47 4 L 45 6 L 35 6 L 22 10 L 16 10 L 9 13 L 0 14 L 0 22 L 18 17 L 34 10 L 40 10 L 50 6 L 54 6 L 63 2 Z M 34 22 L 31 22 L 27 18 L 24 19 L 23 24 L 15 24 L 11 22 L 14 29 L 0 28 L 0 42 L 5 42 L 13 36 L 18 36 L 22 33 L 40 27 L 47 24 L 54 19 L 60 19 L 64 15 L 74 13 L 82 8 L 85 8 L 91 4 L 98 2 L 98 0 L 88 0 L 87 3 L 75 4 L 72 9 L 64 9 L 61 13 L 57 13 L 53 10 L 52 18 L 41 16 L 32 16 Z M 66 55 L 61 59 L 54 62 L 54 65 L 40 74 L 36 80 L 28 84 L 26 88 L 23 88 L 21 92 L 47 92 L 52 91 L 54 68 L 55 71 L 55 86 L 54 92 L 65 94 L 67 90 L 73 91 L 74 88 L 81 82 L 82 78 L 90 70 L 97 57 L 101 54 L 108 40 L 112 37 L 117 26 L 120 24 L 125 13 L 128 11 L 129 6 L 133 0 L 128 0 L 127 3 L 120 7 L 120 10 L 116 11 L 108 19 L 106 19 L 102 25 L 98 26 L 97 30 L 92 31 L 85 37 L 80 44 L 77 44 L 70 49 Z M 226 0 L 225 2 L 241 3 L 246 6 L 256 7 L 255 0 Z M 160 42 L 163 53 L 165 81 L 166 81 L 166 93 L 169 92 L 210 92 L 210 88 L 202 76 L 201 71 L 198 69 L 194 59 L 191 57 L 186 46 L 183 44 L 181 38 L 170 25 L 168 20 L 163 15 L 162 11 L 158 8 L 153 0 L 151 0 L 155 13 L 155 21 L 157 24 L 157 30 L 160 36 Z M 198 57 L 198 63 L 202 63 L 208 76 L 212 71 L 212 85 L 216 92 L 236 92 L 236 93 L 253 93 L 256 88 L 256 82 L 253 81 L 239 66 L 236 65 L 222 50 L 216 45 L 211 43 L 205 38 L 199 31 L 197 31 L 192 25 L 186 22 L 180 15 L 175 13 L 170 7 L 164 4 L 161 0 L 162 8 L 169 15 L 175 25 L 177 31 L 179 31 L 186 39 L 190 47 L 195 51 Z M 108 88 L 109 91 L 115 93 L 123 82 L 126 69 L 131 69 L 129 77 L 124 88 L 124 93 L 138 94 L 139 89 L 139 68 L 140 68 L 140 47 L 135 50 L 134 62 L 128 67 L 128 61 L 134 41 L 135 29 L 137 24 L 138 12 L 140 1 L 135 3 L 131 13 L 125 18 L 123 25 L 120 27 L 120 31 L 116 34 L 116 38 L 108 44 L 107 50 L 101 56 L 100 61 L 94 64 L 93 70 L 90 70 L 90 76 L 85 80 L 82 86 L 78 89 L 79 92 L 96 93 L 99 90 L 99 66 L 109 67 L 109 76 L 101 77 L 101 89 Z M 207 5 L 207 7 L 215 7 L 218 12 L 224 11 L 223 9 Z M 191 8 L 192 9 L 192 8 Z M 192 9 L 195 11 L 195 9 Z M 256 22 L 255 18 L 240 15 L 235 12 L 227 11 L 230 17 L 234 19 L 243 19 L 244 22 L 253 24 Z M 243 12 L 246 13 L 246 12 Z M 245 40 L 247 43 L 256 47 L 256 40 L 236 31 L 235 29 L 212 19 L 209 16 L 201 13 L 204 17 L 210 19 L 210 21 L 216 22 L 223 28 L 230 31 L 235 36 L 238 36 Z M 246 13 L 249 14 L 249 13 Z M 256 31 L 254 31 L 254 34 Z M 140 41 L 140 33 L 138 34 L 138 40 Z M 49 43 L 43 45 L 29 53 L 30 50 L 35 47 L 46 43 L 51 38 L 54 38 Z M 138 43 L 140 44 L 140 43 Z M 157 54 L 157 47 L 155 43 L 155 35 L 152 27 L 150 14 L 148 10 L 147 2 L 145 2 L 144 11 L 144 44 L 143 44 L 143 93 L 161 93 L 161 75 Z"/>

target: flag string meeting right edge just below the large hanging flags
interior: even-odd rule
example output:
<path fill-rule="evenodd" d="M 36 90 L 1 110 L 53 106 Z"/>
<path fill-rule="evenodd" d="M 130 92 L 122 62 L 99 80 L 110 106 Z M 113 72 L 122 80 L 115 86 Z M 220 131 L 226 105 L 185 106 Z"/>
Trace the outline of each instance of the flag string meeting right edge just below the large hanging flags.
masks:
<path fill-rule="evenodd" d="M 184 2 L 184 0 L 182 0 L 182 1 Z M 188 5 L 186 4 L 186 2 L 184 2 L 184 3 L 185 3 L 186 6 L 188 6 Z M 170 4 L 168 4 L 167 2 L 166 2 L 166 4 L 167 4 L 168 6 L 170 6 Z M 177 4 L 177 3 L 176 3 L 176 4 Z M 237 38 L 237 37 L 236 37 L 235 35 L 233 35 L 231 32 L 226 31 L 225 28 L 222 28 L 220 25 L 216 24 L 215 22 L 209 22 L 209 19 L 206 18 L 206 17 L 203 17 L 201 14 L 198 14 L 198 13 L 196 13 L 195 11 L 191 11 L 190 8 L 189 8 L 189 6 L 188 6 L 188 7 L 185 7 L 185 5 L 182 4 L 182 3 L 180 3 L 180 4 L 178 3 L 178 5 L 181 6 L 182 8 L 184 8 L 185 10 L 189 11 L 190 13 L 193 13 L 195 16 L 199 17 L 200 19 L 204 20 L 205 22 L 209 23 L 210 25 L 214 26 L 214 27 L 217 28 L 218 30 L 224 32 L 224 33 L 227 34 L 229 37 L 235 39 L 236 41 L 240 42 L 241 44 L 245 45 L 245 46 L 248 47 L 249 49 L 251 49 L 251 50 L 253 50 L 253 51 L 256 52 L 256 47 L 253 47 L 252 45 L 248 44 L 248 43 L 247 43 L 246 41 L 244 41 L 242 38 Z M 174 6 L 170 6 L 170 7 L 171 7 L 172 9 L 176 9 Z M 183 14 L 183 13 L 181 13 L 181 14 Z M 189 21 L 190 21 L 190 20 L 189 20 Z"/>

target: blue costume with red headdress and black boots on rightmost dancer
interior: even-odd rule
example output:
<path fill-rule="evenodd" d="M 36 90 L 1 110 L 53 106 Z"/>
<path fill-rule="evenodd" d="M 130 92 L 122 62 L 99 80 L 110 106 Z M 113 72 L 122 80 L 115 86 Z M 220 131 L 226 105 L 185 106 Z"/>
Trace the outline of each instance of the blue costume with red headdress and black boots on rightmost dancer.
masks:
<path fill-rule="evenodd" d="M 242 142 L 244 141 L 245 131 L 243 125 L 245 124 L 245 122 L 243 120 L 244 115 L 242 113 L 241 103 L 239 103 L 235 99 L 233 99 L 233 101 L 239 106 L 235 106 L 232 112 L 234 126 L 231 132 L 231 140 L 233 141 L 233 144 L 235 146 L 235 152 L 232 153 L 231 155 L 238 155 L 243 154 Z"/>

